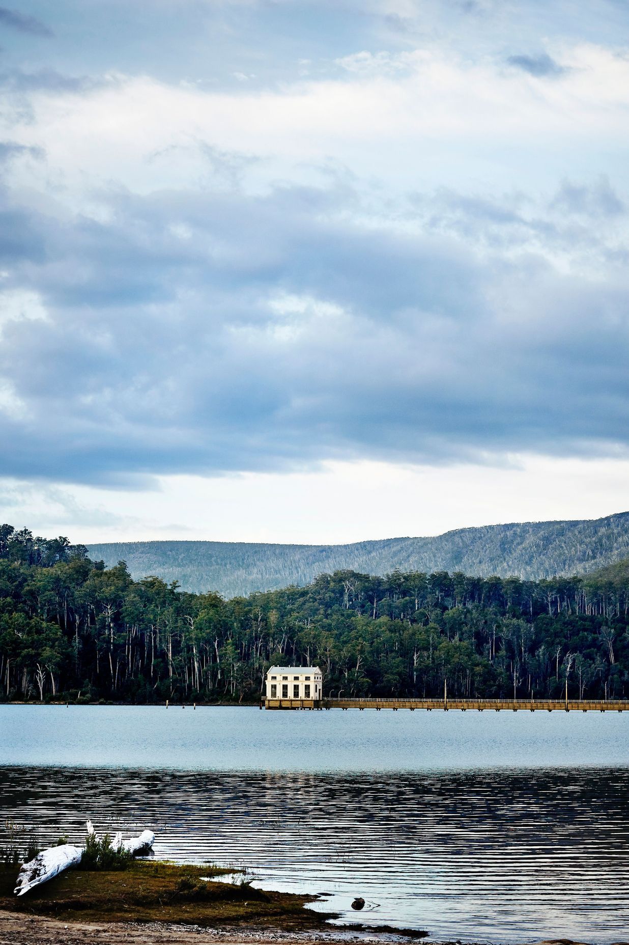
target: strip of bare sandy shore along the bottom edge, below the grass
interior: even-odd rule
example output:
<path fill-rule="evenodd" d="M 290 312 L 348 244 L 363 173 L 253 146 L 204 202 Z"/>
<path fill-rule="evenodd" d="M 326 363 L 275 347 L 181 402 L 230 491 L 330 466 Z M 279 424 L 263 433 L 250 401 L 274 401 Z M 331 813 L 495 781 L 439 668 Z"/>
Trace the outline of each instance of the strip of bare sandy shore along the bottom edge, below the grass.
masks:
<path fill-rule="evenodd" d="M 348 942 L 395 942 L 399 936 L 357 932 L 273 932 L 265 929 L 207 929 L 170 922 L 64 922 L 0 910 L 0 945 L 348 945 Z M 407 940 L 407 939 L 406 939 Z M 454 945 L 434 943 L 431 945 Z M 588 945 L 554 938 L 537 945 Z M 629 945 L 617 942 L 615 945 Z"/>

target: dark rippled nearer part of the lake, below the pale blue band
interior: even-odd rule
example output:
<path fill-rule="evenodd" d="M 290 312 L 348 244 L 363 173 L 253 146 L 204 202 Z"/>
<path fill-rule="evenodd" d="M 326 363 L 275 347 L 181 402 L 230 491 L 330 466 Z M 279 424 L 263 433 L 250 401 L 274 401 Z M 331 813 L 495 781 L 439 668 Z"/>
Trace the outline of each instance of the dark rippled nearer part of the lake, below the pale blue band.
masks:
<path fill-rule="evenodd" d="M 46 839 L 150 827 L 155 853 L 267 888 L 379 903 L 435 937 L 612 942 L 629 928 L 626 768 L 325 774 L 0 768 L 0 814 Z"/>

